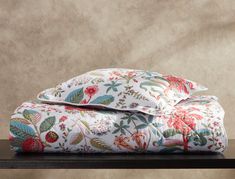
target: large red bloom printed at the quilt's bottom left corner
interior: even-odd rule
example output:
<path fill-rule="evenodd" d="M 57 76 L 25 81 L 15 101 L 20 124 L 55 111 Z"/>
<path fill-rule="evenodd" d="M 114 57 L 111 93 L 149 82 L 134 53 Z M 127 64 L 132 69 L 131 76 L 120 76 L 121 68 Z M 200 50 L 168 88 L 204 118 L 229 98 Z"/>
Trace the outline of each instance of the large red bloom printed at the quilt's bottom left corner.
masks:
<path fill-rule="evenodd" d="M 43 152 L 44 145 L 40 139 L 28 138 L 22 143 L 24 152 Z"/>

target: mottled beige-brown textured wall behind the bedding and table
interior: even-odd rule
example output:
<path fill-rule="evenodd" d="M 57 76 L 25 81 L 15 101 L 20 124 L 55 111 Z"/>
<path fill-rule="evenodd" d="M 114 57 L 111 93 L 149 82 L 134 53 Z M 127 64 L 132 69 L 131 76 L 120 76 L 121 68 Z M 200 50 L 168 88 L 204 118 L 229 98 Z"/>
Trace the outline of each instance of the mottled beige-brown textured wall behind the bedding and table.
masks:
<path fill-rule="evenodd" d="M 0 138 L 10 114 L 80 73 L 127 67 L 209 87 L 235 138 L 235 1 L 0 0 Z M 192 175 L 193 172 L 193 175 Z M 232 170 L 13 170 L 4 178 L 233 178 Z M 3 175 L 2 175 L 3 174 Z M 1 177 L 2 178 L 2 177 Z"/>

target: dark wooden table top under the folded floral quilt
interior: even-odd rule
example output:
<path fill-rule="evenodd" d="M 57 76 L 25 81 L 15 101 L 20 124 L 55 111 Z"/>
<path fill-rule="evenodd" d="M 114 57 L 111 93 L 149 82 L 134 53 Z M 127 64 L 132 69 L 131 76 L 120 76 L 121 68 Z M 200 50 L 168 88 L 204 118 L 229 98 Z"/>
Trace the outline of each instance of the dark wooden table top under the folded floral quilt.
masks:
<path fill-rule="evenodd" d="M 0 169 L 235 168 L 235 140 L 222 154 L 16 154 L 0 140 Z"/>

